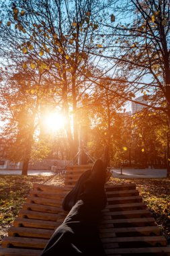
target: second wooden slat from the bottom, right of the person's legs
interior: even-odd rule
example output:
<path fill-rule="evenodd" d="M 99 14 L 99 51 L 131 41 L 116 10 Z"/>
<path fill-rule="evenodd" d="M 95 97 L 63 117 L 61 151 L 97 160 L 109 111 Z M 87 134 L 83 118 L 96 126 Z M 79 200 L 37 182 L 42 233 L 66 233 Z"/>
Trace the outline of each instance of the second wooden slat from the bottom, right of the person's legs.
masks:
<path fill-rule="evenodd" d="M 114 237 L 114 238 L 101 238 L 103 243 L 128 243 L 130 247 L 132 247 L 132 243 L 140 243 L 144 242 L 149 245 L 157 246 L 157 244 L 161 246 L 167 245 L 167 240 L 163 236 L 133 236 L 133 237 Z M 131 243 L 131 244 L 130 244 Z"/>

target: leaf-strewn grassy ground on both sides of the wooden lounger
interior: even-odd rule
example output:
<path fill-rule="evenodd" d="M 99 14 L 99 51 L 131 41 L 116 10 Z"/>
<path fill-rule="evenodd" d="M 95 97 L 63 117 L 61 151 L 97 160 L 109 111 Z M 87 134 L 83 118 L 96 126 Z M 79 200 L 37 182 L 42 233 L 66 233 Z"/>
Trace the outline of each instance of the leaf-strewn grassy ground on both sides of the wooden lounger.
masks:
<path fill-rule="evenodd" d="M 0 244 L 26 201 L 33 184 L 44 182 L 47 185 L 62 185 L 64 176 L 0 175 Z M 108 183 L 136 183 L 136 188 L 170 243 L 170 179 L 116 179 L 110 177 Z"/>

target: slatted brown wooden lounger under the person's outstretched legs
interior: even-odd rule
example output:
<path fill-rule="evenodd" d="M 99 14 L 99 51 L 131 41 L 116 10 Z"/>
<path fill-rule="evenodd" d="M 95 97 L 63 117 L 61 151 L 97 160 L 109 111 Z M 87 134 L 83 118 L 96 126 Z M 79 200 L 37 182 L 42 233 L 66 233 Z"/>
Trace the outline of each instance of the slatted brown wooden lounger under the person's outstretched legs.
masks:
<path fill-rule="evenodd" d="M 3 239 L 0 256 L 40 255 L 55 228 L 67 216 L 62 210 L 62 199 L 89 168 L 68 168 L 63 187 L 34 185 Z M 106 255 L 170 255 L 170 247 L 135 184 L 105 185 L 105 191 L 108 203 L 99 221 L 99 236 Z"/>

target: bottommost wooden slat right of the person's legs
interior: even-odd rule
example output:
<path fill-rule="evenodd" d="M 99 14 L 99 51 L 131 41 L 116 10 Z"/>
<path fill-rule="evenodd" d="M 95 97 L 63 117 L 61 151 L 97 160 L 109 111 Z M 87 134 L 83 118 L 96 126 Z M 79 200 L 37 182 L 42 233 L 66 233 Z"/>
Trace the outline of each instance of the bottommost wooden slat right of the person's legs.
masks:
<path fill-rule="evenodd" d="M 146 248 L 116 248 L 116 249 L 105 249 L 105 253 L 107 255 L 126 255 L 126 254 L 137 254 L 140 255 L 140 253 L 166 253 L 166 256 L 170 255 L 170 247 L 146 247 Z"/>

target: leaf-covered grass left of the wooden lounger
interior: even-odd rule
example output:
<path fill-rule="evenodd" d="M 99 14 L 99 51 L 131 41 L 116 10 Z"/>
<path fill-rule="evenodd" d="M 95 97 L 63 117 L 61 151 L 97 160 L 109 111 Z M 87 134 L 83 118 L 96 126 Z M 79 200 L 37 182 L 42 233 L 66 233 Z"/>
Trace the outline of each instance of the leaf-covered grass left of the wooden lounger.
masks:
<path fill-rule="evenodd" d="M 28 197 L 34 183 L 42 183 L 47 177 L 19 175 L 0 176 L 0 244 L 7 230 L 13 224 L 15 216 Z"/>

